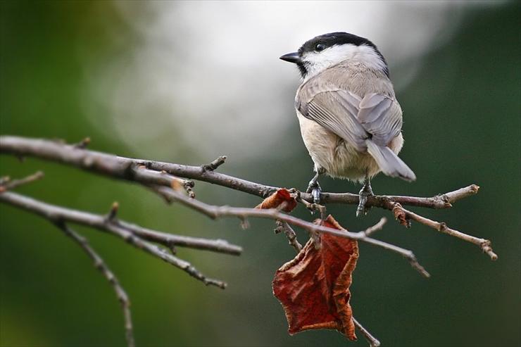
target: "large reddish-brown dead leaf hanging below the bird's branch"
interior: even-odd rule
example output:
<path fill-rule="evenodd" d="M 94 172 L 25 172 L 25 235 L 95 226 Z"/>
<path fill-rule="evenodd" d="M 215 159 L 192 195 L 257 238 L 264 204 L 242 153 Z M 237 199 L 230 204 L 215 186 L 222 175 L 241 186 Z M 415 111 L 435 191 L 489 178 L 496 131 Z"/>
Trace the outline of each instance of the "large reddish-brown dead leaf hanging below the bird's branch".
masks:
<path fill-rule="evenodd" d="M 345 230 L 331 215 L 323 225 Z M 336 329 L 356 340 L 349 286 L 358 259 L 358 243 L 330 234 L 319 237 L 320 249 L 308 241 L 293 260 L 277 270 L 273 294 L 282 303 L 289 334 Z"/>

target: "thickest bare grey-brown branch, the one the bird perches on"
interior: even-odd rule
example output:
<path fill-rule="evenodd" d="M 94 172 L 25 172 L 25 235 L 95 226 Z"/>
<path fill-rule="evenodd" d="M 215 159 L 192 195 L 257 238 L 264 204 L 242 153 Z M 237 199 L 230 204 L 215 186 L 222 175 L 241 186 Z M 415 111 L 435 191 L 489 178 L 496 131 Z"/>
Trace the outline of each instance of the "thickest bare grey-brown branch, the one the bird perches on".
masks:
<path fill-rule="evenodd" d="M 67 145 L 56 141 L 44 139 L 30 139 L 26 137 L 0 136 L 0 153 L 10 153 L 14 156 L 33 156 L 46 160 L 56 161 L 67 165 L 73 165 L 83 170 L 96 172 L 101 175 L 110 176 L 118 179 L 127 179 L 142 184 L 159 184 L 170 187 L 170 181 L 160 180 L 157 176 L 135 175 L 139 165 L 143 165 L 146 169 L 157 172 L 168 172 L 176 177 L 184 177 L 188 179 L 196 179 L 211 184 L 218 184 L 222 187 L 243 191 L 244 193 L 253 194 L 266 198 L 279 189 L 265 184 L 249 182 L 246 179 L 240 179 L 230 175 L 224 175 L 213 170 L 205 170 L 212 168 L 212 163 L 221 163 L 220 158 L 214 160 L 211 164 L 201 166 L 180 165 L 174 163 L 163 163 L 154 160 L 133 159 L 120 156 L 114 156 L 108 153 L 97 151 L 89 151 L 80 149 L 77 146 Z M 220 164 L 219 164 L 220 165 Z M 427 208 L 449 208 L 451 202 L 458 198 L 474 194 L 475 185 L 458 189 L 464 191 L 456 194 L 453 191 L 431 198 L 418 198 L 413 196 L 370 196 L 366 206 L 385 208 L 389 201 L 401 203 L 404 206 L 418 206 Z M 456 194 L 458 198 L 453 198 Z M 448 196 L 448 201 L 444 199 Z M 313 202 L 313 197 L 308 193 L 301 193 L 301 198 L 309 203 Z M 320 196 L 322 203 L 346 203 L 358 204 L 358 195 L 350 193 L 322 193 Z"/>

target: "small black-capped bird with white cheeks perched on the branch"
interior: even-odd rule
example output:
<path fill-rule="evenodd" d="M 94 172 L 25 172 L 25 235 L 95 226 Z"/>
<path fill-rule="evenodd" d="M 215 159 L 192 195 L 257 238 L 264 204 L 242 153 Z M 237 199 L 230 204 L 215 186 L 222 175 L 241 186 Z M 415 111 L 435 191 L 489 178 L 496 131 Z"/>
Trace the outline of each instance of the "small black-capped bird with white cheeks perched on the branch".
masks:
<path fill-rule="evenodd" d="M 298 52 L 281 56 L 295 63 L 302 84 L 295 108 L 302 139 L 315 164 L 308 192 L 320 202 L 318 177 L 363 182 L 356 215 L 367 213 L 370 179 L 378 172 L 414 181 L 398 158 L 403 146 L 402 111 L 389 80 L 389 68 L 368 39 L 346 32 L 323 34 Z"/>

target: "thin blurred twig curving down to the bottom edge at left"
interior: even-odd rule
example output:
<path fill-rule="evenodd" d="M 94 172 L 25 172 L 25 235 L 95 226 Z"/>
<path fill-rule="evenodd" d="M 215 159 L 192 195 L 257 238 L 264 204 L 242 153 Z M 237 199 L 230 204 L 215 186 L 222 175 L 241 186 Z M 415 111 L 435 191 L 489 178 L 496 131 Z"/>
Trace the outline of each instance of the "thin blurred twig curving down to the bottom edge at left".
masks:
<path fill-rule="evenodd" d="M 99 256 L 96 251 L 94 251 L 94 248 L 89 245 L 89 241 L 85 239 L 84 236 L 81 236 L 77 232 L 75 232 L 73 229 L 70 229 L 68 225 L 66 225 L 64 222 L 56 222 L 55 223 L 58 228 L 60 228 L 65 235 L 69 236 L 71 239 L 73 239 L 80 247 L 89 255 L 89 257 L 94 262 L 94 267 L 101 271 L 103 276 L 108 280 L 108 282 L 111 284 L 115 291 L 115 295 L 118 297 L 118 300 L 121 303 L 121 308 L 123 308 L 123 318 L 125 319 L 125 336 L 127 338 L 127 346 L 128 347 L 134 347 L 134 332 L 132 330 L 132 316 L 130 314 L 130 300 L 128 298 L 127 292 L 125 289 L 123 289 L 123 286 L 121 286 L 120 282 L 118 281 L 118 278 L 115 277 L 111 269 L 108 268 L 106 263 L 103 261 L 103 258 Z"/>

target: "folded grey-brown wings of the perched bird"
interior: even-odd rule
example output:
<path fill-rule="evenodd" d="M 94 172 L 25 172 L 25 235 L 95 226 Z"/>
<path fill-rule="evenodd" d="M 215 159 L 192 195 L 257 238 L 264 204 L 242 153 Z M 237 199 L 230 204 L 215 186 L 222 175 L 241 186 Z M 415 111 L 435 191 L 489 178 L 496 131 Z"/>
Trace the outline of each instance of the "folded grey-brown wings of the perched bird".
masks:
<path fill-rule="evenodd" d="M 318 83 L 308 83 L 301 89 L 296 107 L 304 117 L 334 132 L 358 151 L 367 149 L 367 139 L 387 146 L 400 133 L 401 108 L 389 96 L 373 93 L 362 99 L 332 84 Z"/>

